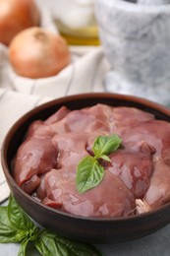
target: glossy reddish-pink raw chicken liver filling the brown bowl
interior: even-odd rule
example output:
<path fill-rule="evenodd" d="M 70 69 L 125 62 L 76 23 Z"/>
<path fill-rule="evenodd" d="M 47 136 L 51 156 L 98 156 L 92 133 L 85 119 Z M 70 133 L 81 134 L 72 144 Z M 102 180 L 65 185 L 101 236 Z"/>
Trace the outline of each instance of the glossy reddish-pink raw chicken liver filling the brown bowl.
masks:
<path fill-rule="evenodd" d="M 121 136 L 121 148 L 105 162 L 99 185 L 79 194 L 79 161 L 92 154 L 97 136 L 112 134 Z M 170 201 L 169 152 L 170 124 L 150 113 L 105 104 L 73 111 L 63 106 L 29 126 L 14 160 L 14 177 L 55 209 L 83 217 L 125 217 L 138 214 L 138 200 L 149 210 Z"/>

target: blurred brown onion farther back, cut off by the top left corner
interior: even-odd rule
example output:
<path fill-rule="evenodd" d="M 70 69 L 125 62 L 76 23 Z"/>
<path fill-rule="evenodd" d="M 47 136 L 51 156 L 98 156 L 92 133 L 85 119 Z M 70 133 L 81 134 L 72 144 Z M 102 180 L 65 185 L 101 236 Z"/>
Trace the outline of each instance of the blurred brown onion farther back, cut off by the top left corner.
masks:
<path fill-rule="evenodd" d="M 40 12 L 34 0 L 0 0 L 1 43 L 8 46 L 18 32 L 39 23 Z"/>

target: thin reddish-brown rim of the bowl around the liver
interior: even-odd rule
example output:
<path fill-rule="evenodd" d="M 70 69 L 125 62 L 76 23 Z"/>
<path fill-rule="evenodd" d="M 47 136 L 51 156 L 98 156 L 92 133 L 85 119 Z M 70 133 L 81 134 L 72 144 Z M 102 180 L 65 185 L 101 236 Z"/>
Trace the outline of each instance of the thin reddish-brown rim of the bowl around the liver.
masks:
<path fill-rule="evenodd" d="M 58 215 L 76 219 L 76 220 L 83 220 L 83 221 L 85 220 L 85 221 L 89 221 L 89 222 L 95 221 L 95 222 L 102 222 L 102 223 L 105 223 L 105 222 L 119 223 L 119 222 L 127 222 L 127 221 L 132 221 L 132 220 L 139 220 L 142 217 L 143 218 L 149 217 L 149 216 L 152 216 L 153 214 L 155 214 L 155 215 L 161 214 L 162 211 L 170 208 L 170 202 L 166 203 L 163 206 L 160 206 L 159 208 L 157 208 L 155 210 L 151 210 L 149 212 L 142 213 L 139 215 L 134 215 L 134 216 L 117 217 L 117 218 L 109 218 L 109 217 L 108 218 L 93 218 L 93 217 L 76 216 L 76 215 L 73 215 L 70 213 L 65 213 L 60 210 L 53 209 L 51 207 L 48 207 L 48 206 L 43 205 L 42 203 L 38 202 L 33 197 L 31 197 L 27 192 L 25 192 L 13 178 L 13 176 L 10 172 L 11 169 L 8 166 L 8 160 L 7 160 L 6 156 L 7 156 L 7 150 L 8 150 L 9 143 L 10 143 L 11 139 L 13 138 L 15 132 L 17 131 L 18 125 L 19 124 L 23 125 L 26 122 L 26 120 L 28 120 L 28 118 L 35 115 L 40 110 L 52 107 L 55 104 L 59 104 L 59 103 L 70 101 L 70 100 L 78 100 L 78 99 L 80 100 L 83 98 L 85 99 L 85 98 L 93 98 L 93 97 L 95 97 L 95 98 L 102 97 L 102 98 L 110 98 L 110 99 L 116 98 L 118 100 L 121 99 L 124 101 L 127 100 L 130 102 L 137 102 L 142 105 L 148 106 L 149 108 L 158 110 L 159 112 L 162 112 L 163 114 L 166 114 L 170 117 L 170 109 L 168 109 L 166 106 L 163 106 L 157 102 L 154 102 L 154 101 L 151 101 L 151 100 L 139 97 L 139 96 L 129 96 L 129 95 L 127 96 L 127 95 L 112 94 L 112 93 L 90 93 L 90 94 L 87 93 L 87 94 L 79 94 L 79 95 L 72 95 L 72 96 L 63 96 L 63 97 L 55 98 L 55 99 L 52 99 L 45 103 L 42 103 L 36 107 L 33 107 L 31 110 L 28 110 L 28 112 L 26 112 L 18 120 L 16 120 L 16 122 L 11 126 L 11 128 L 6 133 L 6 136 L 3 140 L 2 147 L 1 147 L 1 163 L 2 163 L 2 169 L 5 174 L 7 183 L 10 183 L 13 186 L 13 188 L 15 188 L 19 191 L 20 194 L 23 194 L 28 200 L 31 201 L 31 203 L 37 204 L 40 208 L 45 209 L 46 211 L 51 211 L 54 214 L 58 214 Z M 10 190 L 10 193 L 12 193 L 11 190 Z"/>

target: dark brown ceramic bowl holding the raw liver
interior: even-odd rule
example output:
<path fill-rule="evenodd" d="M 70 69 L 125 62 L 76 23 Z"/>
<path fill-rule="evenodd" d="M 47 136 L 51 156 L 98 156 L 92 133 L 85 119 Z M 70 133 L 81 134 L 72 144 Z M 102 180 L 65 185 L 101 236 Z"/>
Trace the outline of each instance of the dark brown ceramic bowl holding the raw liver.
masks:
<path fill-rule="evenodd" d="M 36 119 L 45 119 L 62 105 L 71 109 L 82 108 L 96 103 L 113 106 L 133 106 L 153 113 L 156 118 L 170 122 L 170 110 L 136 96 L 113 94 L 85 94 L 66 96 L 42 104 L 29 111 L 17 121 L 8 132 L 2 147 L 2 165 L 11 192 L 28 215 L 45 227 L 59 234 L 90 243 L 115 243 L 136 239 L 170 223 L 170 203 L 156 211 L 139 216 L 117 219 L 81 218 L 46 207 L 25 193 L 15 182 L 12 160 L 21 145 L 28 125 Z"/>

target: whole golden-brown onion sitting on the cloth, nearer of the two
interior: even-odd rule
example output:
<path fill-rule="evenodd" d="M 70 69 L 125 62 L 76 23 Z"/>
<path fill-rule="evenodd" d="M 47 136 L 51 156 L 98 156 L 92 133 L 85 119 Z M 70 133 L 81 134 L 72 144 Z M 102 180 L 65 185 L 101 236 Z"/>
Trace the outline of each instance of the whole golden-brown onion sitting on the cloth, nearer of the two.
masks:
<path fill-rule="evenodd" d="M 61 35 L 35 27 L 14 37 L 9 59 L 18 75 L 37 79 L 58 74 L 70 63 L 71 54 Z"/>

